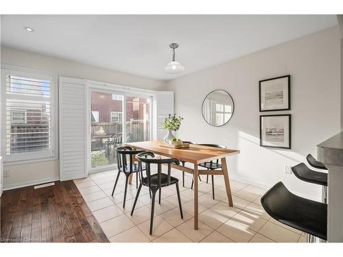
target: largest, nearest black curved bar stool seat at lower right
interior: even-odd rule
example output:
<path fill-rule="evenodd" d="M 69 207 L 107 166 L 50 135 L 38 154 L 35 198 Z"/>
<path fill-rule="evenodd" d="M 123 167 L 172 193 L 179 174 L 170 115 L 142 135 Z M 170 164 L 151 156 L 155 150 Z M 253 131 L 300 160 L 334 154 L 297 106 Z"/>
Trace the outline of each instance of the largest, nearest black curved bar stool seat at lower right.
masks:
<path fill-rule="evenodd" d="M 327 204 L 298 197 L 282 182 L 261 197 L 261 204 L 276 221 L 327 240 Z"/>

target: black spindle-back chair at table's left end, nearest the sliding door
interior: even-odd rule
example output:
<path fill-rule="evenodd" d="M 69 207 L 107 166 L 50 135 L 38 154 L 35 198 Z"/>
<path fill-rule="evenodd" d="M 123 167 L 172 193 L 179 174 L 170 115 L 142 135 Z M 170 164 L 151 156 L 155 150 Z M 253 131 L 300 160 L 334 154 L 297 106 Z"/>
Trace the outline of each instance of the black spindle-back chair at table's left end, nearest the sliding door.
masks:
<path fill-rule="evenodd" d="M 126 182 L 125 182 L 123 208 L 125 208 L 126 192 L 128 191 L 128 179 L 132 173 L 136 173 L 136 188 L 138 188 L 139 169 L 138 169 L 138 164 L 134 163 L 134 160 L 132 160 L 132 156 L 143 152 L 143 150 L 132 150 L 131 147 L 117 147 L 115 151 L 117 153 L 118 175 L 115 180 L 115 186 L 113 186 L 112 195 L 115 193 L 115 187 L 117 186 L 120 173 L 124 173 L 124 175 L 126 175 Z M 129 161 L 127 157 L 129 158 Z M 145 169 L 145 167 L 143 167 L 143 169 Z"/>

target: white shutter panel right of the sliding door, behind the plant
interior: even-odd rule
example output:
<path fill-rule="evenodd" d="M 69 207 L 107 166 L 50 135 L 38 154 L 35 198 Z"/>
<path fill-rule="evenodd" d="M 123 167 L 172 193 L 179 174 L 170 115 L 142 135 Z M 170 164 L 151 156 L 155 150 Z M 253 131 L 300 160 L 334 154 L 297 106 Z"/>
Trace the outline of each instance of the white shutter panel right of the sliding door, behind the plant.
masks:
<path fill-rule="evenodd" d="M 159 91 L 157 94 L 157 139 L 163 140 L 166 130 L 161 127 L 168 114 L 174 114 L 174 92 Z"/>

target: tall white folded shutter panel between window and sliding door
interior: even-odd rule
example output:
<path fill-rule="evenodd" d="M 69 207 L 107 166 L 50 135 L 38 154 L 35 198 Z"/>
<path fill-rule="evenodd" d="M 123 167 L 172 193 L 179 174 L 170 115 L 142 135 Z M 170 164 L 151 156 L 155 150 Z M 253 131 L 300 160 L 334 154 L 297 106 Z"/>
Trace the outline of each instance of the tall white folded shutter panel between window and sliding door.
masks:
<path fill-rule="evenodd" d="M 60 180 L 85 178 L 86 84 L 83 79 L 60 77 Z"/>

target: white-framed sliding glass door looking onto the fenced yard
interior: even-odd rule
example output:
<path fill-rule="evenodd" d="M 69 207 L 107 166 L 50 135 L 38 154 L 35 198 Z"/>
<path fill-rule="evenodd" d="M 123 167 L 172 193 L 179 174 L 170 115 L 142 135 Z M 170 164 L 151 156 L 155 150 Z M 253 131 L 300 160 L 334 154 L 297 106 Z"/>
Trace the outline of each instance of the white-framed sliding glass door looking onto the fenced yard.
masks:
<path fill-rule="evenodd" d="M 90 88 L 90 173 L 117 168 L 116 147 L 152 139 L 152 95 Z"/>

